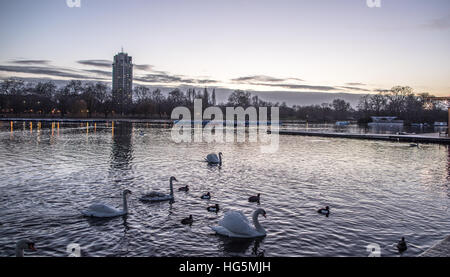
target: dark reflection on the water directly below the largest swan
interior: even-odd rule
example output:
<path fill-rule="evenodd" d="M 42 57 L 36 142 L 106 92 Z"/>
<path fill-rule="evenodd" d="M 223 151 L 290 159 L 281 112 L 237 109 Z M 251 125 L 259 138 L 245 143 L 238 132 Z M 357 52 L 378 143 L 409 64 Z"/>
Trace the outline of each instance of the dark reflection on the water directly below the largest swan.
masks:
<path fill-rule="evenodd" d="M 264 250 L 260 249 L 261 242 L 264 238 L 254 239 L 238 239 L 218 236 L 219 249 L 225 254 L 230 255 L 244 255 L 251 247 L 251 255 L 256 257 L 264 257 Z"/>

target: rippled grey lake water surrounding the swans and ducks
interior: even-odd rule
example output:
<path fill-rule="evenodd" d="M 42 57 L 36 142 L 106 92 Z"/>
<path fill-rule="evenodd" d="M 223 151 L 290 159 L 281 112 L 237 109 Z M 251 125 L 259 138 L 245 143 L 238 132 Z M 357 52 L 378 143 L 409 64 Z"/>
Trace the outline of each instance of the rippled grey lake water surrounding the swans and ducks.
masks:
<path fill-rule="evenodd" d="M 67 256 L 70 243 L 83 256 L 367 256 L 377 243 L 383 256 L 405 236 L 415 256 L 449 234 L 449 160 L 446 146 L 281 136 L 275 154 L 258 143 L 184 143 L 170 130 L 146 124 L 61 124 L 59 131 L 29 123 L 0 127 L 0 256 L 31 238 L 36 256 Z M 201 160 L 223 152 L 222 167 Z M 175 192 L 176 202 L 149 204 L 151 189 Z M 85 218 L 94 202 L 122 205 L 130 189 L 130 213 L 107 220 Z M 213 199 L 201 200 L 210 191 Z M 248 203 L 261 193 L 261 204 Z M 219 203 L 217 215 L 208 205 Z M 330 217 L 317 214 L 325 205 Z M 213 234 L 229 209 L 248 217 L 262 207 L 268 235 L 230 240 Z M 180 220 L 194 216 L 192 227 Z"/>

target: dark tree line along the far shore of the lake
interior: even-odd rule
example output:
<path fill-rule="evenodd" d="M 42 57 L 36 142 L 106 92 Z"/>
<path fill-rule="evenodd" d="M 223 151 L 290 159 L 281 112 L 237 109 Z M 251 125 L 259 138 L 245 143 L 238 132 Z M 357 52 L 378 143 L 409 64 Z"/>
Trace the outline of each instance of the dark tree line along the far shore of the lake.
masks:
<path fill-rule="evenodd" d="M 117 107 L 114 93 L 101 82 L 70 81 L 58 87 L 51 81 L 24 82 L 7 79 L 0 83 L 0 112 L 2 116 L 17 117 L 136 117 L 170 118 L 175 107 L 185 106 L 193 110 L 195 99 L 202 99 L 203 109 L 209 106 L 225 107 L 279 107 L 280 118 L 305 120 L 308 122 L 334 122 L 357 120 L 369 122 L 371 116 L 397 116 L 406 122 L 432 123 L 446 121 L 445 107 L 435 102 L 430 104 L 428 93 L 414 94 L 410 87 L 397 86 L 389 91 L 361 97 L 356 109 L 342 99 L 321 105 L 287 106 L 285 102 L 272 103 L 260 99 L 250 92 L 236 90 L 227 102 L 217 103 L 216 91 L 207 88 L 190 88 L 183 92 L 173 89 L 168 94 L 160 89 L 135 86 L 131 103 Z M 122 113 L 123 112 L 123 113 Z"/>

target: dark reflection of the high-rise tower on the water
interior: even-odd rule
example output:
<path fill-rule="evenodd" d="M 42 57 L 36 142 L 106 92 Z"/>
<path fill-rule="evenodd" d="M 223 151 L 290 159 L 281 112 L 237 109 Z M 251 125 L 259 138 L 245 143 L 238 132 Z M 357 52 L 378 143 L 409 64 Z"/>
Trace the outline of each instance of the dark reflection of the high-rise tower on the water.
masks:
<path fill-rule="evenodd" d="M 119 122 L 114 126 L 114 136 L 111 149 L 111 169 L 129 170 L 133 160 L 133 145 L 131 143 L 133 124 Z"/>

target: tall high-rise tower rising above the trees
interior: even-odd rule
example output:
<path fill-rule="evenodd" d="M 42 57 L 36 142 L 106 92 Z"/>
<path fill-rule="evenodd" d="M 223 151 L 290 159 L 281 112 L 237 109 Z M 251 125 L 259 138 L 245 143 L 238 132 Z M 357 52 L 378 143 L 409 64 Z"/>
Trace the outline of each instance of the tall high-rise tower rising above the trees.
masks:
<path fill-rule="evenodd" d="M 112 76 L 114 106 L 117 112 L 124 113 L 133 97 L 133 62 L 123 50 L 114 56 Z"/>

